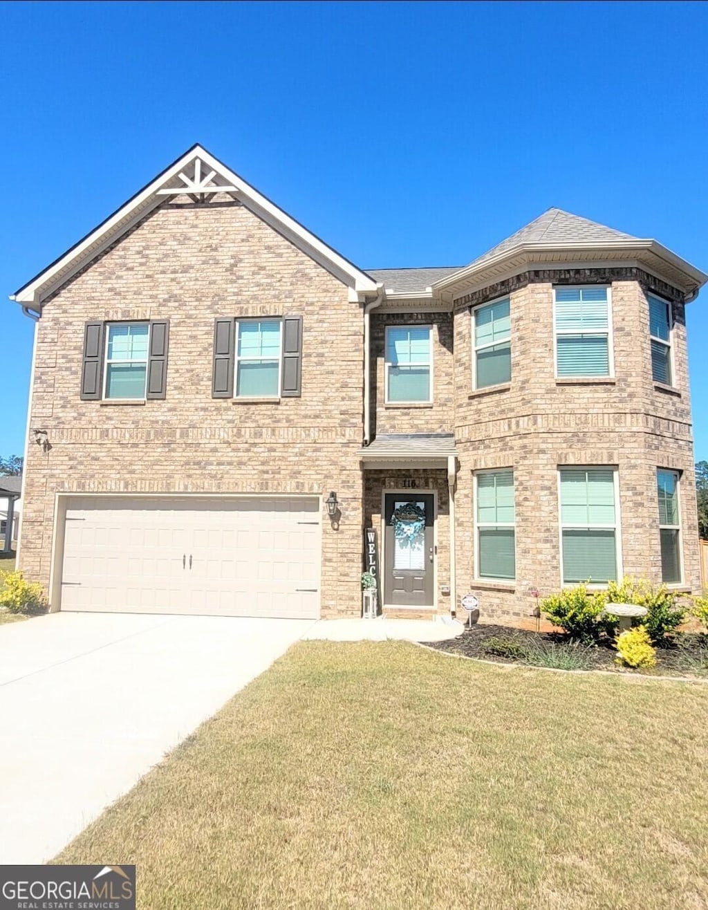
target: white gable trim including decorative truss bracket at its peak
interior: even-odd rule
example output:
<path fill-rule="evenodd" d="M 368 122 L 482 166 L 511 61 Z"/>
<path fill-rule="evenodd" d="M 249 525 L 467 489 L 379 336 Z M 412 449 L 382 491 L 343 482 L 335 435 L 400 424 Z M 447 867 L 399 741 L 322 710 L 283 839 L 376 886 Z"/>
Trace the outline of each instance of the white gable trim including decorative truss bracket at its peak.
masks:
<path fill-rule="evenodd" d="M 242 177 L 201 146 L 190 148 L 159 174 L 147 187 L 118 208 L 98 227 L 66 253 L 19 288 L 10 299 L 39 308 L 42 300 L 61 287 L 81 268 L 116 243 L 126 231 L 166 199 L 189 196 L 202 201 L 209 195 L 226 193 L 288 238 L 296 247 L 358 294 L 375 294 L 377 284 L 336 250 L 303 227 L 295 218 L 251 187 Z"/>

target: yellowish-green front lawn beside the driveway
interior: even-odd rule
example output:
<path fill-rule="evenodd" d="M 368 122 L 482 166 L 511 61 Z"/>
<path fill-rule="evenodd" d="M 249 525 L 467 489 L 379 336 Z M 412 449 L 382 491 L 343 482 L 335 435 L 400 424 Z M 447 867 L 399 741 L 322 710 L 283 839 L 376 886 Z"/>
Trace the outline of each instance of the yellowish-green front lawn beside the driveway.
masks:
<path fill-rule="evenodd" d="M 144 910 L 699 910 L 706 710 L 699 683 L 303 642 L 56 862 L 137 864 Z"/>

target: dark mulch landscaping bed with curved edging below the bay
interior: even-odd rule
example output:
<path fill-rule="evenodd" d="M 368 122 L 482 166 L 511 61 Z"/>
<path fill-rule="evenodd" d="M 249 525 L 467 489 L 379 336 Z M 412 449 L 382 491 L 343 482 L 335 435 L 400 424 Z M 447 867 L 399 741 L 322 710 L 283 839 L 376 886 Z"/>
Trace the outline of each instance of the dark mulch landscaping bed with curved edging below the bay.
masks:
<path fill-rule="evenodd" d="M 523 663 L 560 670 L 611 670 L 664 676 L 703 676 L 708 679 L 708 635 L 677 632 L 656 649 L 651 669 L 619 666 L 614 642 L 583 644 L 562 632 L 528 632 L 507 626 L 478 624 L 455 639 L 430 642 L 437 651 L 500 663 Z"/>

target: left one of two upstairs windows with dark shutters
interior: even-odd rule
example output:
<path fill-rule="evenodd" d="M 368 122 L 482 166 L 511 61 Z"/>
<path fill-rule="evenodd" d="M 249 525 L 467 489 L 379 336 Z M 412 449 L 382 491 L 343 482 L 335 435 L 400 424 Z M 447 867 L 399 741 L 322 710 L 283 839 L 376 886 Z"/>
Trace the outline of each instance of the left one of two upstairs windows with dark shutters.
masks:
<path fill-rule="evenodd" d="M 144 401 L 167 392 L 167 319 L 87 322 L 81 368 L 84 400 Z"/>

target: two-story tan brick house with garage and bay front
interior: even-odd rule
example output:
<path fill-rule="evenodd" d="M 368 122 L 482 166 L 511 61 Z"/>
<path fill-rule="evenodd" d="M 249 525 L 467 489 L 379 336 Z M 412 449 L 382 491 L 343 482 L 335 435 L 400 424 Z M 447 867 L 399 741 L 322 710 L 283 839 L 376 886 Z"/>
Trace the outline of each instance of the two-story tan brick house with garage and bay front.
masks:
<path fill-rule="evenodd" d="M 468 266 L 364 271 L 193 147 L 14 296 L 45 443 L 20 566 L 54 610 L 358 615 L 373 528 L 386 612 L 696 591 L 705 280 L 557 208 Z"/>

